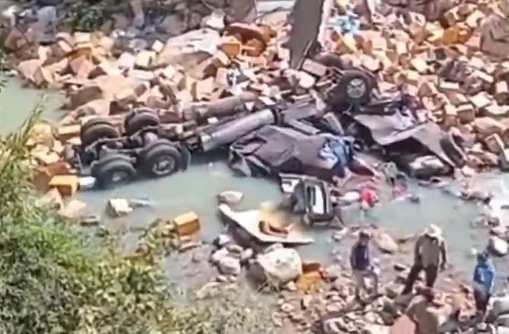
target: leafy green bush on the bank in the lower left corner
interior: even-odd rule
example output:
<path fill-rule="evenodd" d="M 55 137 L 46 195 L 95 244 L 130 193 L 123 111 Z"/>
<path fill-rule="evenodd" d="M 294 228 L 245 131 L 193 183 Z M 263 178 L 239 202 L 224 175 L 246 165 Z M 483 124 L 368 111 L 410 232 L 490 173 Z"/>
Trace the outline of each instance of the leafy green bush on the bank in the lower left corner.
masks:
<path fill-rule="evenodd" d="M 40 111 L 1 140 L 0 333 L 166 333 L 177 328 L 165 279 L 110 247 L 94 251 L 36 205 L 25 143 Z"/>

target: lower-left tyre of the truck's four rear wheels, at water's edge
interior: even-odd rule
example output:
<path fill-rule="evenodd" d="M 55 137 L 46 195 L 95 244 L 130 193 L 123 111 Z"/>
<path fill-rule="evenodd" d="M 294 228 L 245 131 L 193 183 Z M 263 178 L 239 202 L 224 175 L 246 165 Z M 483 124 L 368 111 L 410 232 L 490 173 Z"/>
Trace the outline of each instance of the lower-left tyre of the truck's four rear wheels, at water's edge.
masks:
<path fill-rule="evenodd" d="M 96 178 L 97 185 L 106 189 L 131 182 L 136 170 L 123 154 L 110 154 L 92 166 L 91 175 Z"/>

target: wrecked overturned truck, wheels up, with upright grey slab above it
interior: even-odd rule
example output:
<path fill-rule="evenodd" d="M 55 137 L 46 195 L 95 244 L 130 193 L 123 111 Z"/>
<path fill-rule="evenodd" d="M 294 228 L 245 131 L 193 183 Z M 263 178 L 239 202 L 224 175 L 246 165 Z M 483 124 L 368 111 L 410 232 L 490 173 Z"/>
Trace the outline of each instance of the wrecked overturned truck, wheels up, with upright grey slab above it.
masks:
<path fill-rule="evenodd" d="M 244 175 L 332 180 L 357 150 L 373 145 L 417 177 L 462 166 L 457 138 L 422 117 L 411 96 L 380 92 L 373 74 L 321 50 L 329 2 L 313 9 L 297 0 L 287 43 L 290 67 L 317 79 L 318 96 L 265 103 L 244 92 L 186 107 L 178 119 L 149 108 L 135 108 L 116 124 L 93 118 L 83 124 L 81 143 L 68 150 L 68 160 L 103 188 L 172 175 L 185 170 L 193 154 L 221 147 L 230 148 L 231 166 Z"/>

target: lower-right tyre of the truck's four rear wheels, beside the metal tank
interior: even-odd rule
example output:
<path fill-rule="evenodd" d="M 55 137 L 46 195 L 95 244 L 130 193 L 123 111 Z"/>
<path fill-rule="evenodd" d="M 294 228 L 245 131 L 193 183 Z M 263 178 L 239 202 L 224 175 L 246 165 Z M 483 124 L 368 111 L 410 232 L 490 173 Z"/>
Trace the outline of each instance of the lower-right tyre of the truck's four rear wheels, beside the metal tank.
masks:
<path fill-rule="evenodd" d="M 168 140 L 158 140 L 140 154 L 142 170 L 152 177 L 163 177 L 180 168 L 182 155 Z"/>

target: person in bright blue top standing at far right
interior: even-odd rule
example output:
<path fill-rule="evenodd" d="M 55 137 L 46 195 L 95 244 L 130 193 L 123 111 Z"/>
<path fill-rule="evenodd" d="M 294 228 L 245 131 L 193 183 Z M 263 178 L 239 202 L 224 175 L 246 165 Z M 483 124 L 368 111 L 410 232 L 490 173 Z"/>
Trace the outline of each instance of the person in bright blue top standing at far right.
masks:
<path fill-rule="evenodd" d="M 477 264 L 473 270 L 473 298 L 477 309 L 477 320 L 485 319 L 486 308 L 495 286 L 496 270 L 486 252 L 477 256 Z"/>

